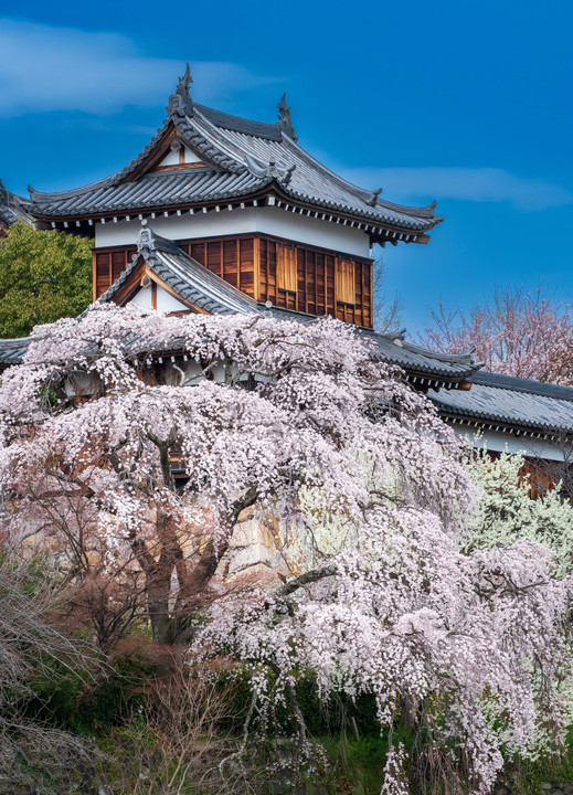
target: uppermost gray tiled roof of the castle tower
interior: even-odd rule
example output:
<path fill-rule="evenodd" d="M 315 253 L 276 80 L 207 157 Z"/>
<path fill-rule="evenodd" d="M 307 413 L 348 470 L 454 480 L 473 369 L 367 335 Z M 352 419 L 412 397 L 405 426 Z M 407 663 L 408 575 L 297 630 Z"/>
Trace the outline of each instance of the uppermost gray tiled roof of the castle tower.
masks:
<path fill-rule="evenodd" d="M 125 169 L 72 191 L 31 191 L 34 213 L 43 219 L 64 219 L 177 208 L 231 200 L 272 187 L 277 197 L 285 200 L 414 233 L 414 236 L 442 220 L 434 215 L 434 205 L 393 204 L 347 182 L 299 147 L 285 127 L 231 116 L 195 105 L 181 95 L 177 99 L 170 100 L 169 119 L 163 127 Z M 171 126 L 204 160 L 205 168 L 159 171 L 129 181 L 130 174 L 151 155 Z"/>

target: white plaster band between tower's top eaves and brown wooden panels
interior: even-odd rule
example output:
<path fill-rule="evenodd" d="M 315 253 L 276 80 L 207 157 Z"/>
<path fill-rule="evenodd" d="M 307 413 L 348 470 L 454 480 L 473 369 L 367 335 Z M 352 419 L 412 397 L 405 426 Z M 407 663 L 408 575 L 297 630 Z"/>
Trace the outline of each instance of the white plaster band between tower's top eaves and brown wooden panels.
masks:
<path fill-rule="evenodd" d="M 148 219 L 148 225 L 171 240 L 261 232 L 356 256 L 368 257 L 370 251 L 369 235 L 361 230 L 272 206 L 229 212 L 226 204 L 222 204 L 220 212 L 158 216 Z M 97 247 L 126 245 L 137 241 L 141 222 L 137 218 L 117 223 L 107 219 L 105 224 L 95 223 L 94 229 Z"/>

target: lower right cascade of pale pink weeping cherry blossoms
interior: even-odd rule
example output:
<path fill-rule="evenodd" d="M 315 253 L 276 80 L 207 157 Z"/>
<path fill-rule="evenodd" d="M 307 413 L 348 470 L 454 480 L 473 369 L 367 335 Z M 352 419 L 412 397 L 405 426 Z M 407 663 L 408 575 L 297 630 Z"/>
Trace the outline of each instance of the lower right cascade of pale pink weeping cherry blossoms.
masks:
<path fill-rule="evenodd" d="M 566 585 L 548 576 L 543 547 L 463 554 L 436 515 L 413 507 L 373 511 L 360 537 L 359 549 L 316 570 L 320 585 L 307 576 L 296 592 L 287 584 L 247 604 L 219 602 L 198 645 L 258 671 L 263 711 L 288 700 L 303 672 L 325 700 L 372 695 L 382 728 L 405 720 L 434 754 L 447 749 L 468 764 L 476 792 L 489 792 L 502 746 L 527 755 L 538 727 L 551 725 L 549 741 L 563 730 Z M 273 692 L 265 667 L 277 675 Z"/>

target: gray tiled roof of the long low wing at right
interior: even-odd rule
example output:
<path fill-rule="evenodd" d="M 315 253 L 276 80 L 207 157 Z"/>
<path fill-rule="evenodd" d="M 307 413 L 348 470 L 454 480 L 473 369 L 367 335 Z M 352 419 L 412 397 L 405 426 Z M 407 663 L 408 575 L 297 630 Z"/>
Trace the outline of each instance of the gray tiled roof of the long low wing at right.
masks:
<path fill-rule="evenodd" d="M 573 389 L 480 371 L 468 392 L 429 393 L 444 417 L 544 434 L 573 433 Z"/>

